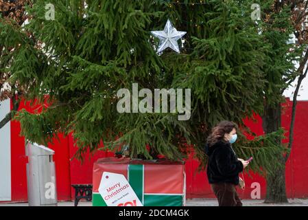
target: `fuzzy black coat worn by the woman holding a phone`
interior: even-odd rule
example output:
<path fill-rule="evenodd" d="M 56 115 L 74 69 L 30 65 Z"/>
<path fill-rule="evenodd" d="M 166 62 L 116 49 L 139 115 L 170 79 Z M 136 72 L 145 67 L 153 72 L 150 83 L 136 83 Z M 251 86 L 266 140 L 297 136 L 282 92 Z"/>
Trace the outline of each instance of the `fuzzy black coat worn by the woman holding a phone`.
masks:
<path fill-rule="evenodd" d="M 239 184 L 239 173 L 243 171 L 243 164 L 237 160 L 237 155 L 229 142 L 221 140 L 212 146 L 206 144 L 204 152 L 209 156 L 206 170 L 209 184 Z"/>

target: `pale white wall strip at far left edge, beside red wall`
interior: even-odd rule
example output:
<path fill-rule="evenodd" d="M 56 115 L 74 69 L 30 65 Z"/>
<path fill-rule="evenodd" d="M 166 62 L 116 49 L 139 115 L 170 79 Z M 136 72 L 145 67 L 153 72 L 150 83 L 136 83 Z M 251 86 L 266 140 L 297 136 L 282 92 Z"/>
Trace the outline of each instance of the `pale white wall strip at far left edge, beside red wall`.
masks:
<path fill-rule="evenodd" d="M 0 121 L 10 112 L 10 100 L 0 102 Z M 0 201 L 11 201 L 11 123 L 0 129 Z"/>

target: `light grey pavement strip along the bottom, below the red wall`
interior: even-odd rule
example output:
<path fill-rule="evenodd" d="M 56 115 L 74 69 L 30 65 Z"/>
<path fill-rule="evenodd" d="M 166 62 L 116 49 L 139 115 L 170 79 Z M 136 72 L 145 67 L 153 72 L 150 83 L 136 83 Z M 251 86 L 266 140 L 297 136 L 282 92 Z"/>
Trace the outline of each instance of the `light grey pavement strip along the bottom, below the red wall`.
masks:
<path fill-rule="evenodd" d="M 264 203 L 263 199 L 242 199 L 243 206 L 308 206 L 308 199 L 289 199 L 289 203 Z M 28 206 L 28 203 L 0 203 L 0 206 Z M 74 206 L 73 201 L 60 201 L 58 206 Z M 91 201 L 80 201 L 78 206 L 92 206 Z M 186 206 L 218 206 L 216 199 L 187 199 Z"/>

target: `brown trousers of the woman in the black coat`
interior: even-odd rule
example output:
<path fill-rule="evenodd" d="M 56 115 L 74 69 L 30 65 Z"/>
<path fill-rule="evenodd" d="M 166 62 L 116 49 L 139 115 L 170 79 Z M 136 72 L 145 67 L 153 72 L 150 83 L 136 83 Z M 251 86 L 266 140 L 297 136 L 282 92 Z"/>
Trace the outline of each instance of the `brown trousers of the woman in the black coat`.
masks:
<path fill-rule="evenodd" d="M 219 206 L 243 206 L 237 195 L 235 184 L 217 183 L 211 184 L 211 188 L 218 199 Z"/>

